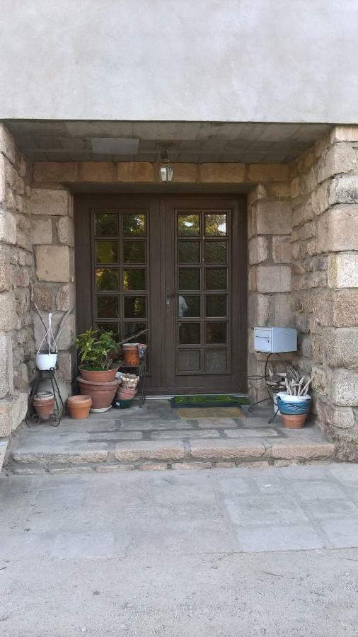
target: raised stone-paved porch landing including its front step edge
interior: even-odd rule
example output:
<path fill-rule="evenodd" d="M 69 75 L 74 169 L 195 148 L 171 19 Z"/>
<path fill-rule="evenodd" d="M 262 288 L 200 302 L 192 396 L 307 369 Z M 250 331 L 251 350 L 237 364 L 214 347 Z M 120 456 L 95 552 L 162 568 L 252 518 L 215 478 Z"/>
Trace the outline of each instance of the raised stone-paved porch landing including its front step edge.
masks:
<path fill-rule="evenodd" d="M 281 418 L 269 424 L 271 408 L 253 413 L 246 408 L 238 418 L 192 414 L 180 418 L 168 401 L 147 401 L 142 409 L 64 418 L 59 427 L 24 426 L 13 442 L 8 471 L 258 468 L 333 457 L 333 442 L 318 427 L 287 430 Z"/>

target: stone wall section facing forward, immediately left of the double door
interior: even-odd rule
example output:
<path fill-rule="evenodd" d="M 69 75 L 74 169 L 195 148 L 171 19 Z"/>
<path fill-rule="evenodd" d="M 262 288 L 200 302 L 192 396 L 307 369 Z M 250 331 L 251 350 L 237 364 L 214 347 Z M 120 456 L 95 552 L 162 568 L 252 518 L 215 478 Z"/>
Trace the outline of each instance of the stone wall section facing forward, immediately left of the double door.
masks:
<path fill-rule="evenodd" d="M 34 299 L 42 320 L 52 312 L 52 328 L 57 341 L 59 377 L 70 386 L 73 379 L 76 338 L 74 294 L 74 222 L 73 200 L 67 190 L 33 188 L 30 197 L 33 252 L 35 256 Z M 36 348 L 40 347 L 45 329 L 40 316 L 34 314 Z M 45 345 L 42 345 L 45 349 Z"/>

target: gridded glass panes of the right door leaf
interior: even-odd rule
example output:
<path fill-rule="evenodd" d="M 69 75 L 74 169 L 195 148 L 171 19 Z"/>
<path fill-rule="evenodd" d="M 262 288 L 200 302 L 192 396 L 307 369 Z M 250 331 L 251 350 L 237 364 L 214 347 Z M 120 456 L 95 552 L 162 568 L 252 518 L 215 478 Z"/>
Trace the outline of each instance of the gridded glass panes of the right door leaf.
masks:
<path fill-rule="evenodd" d="M 228 369 L 228 358 L 223 345 L 230 338 L 230 214 L 223 210 L 179 210 L 175 227 L 179 266 L 175 290 L 178 338 L 176 368 L 180 374 L 224 374 Z M 195 267 L 184 267 L 191 263 L 196 264 Z M 188 345 L 192 348 L 188 349 Z M 195 345 L 197 348 L 193 348 Z"/>

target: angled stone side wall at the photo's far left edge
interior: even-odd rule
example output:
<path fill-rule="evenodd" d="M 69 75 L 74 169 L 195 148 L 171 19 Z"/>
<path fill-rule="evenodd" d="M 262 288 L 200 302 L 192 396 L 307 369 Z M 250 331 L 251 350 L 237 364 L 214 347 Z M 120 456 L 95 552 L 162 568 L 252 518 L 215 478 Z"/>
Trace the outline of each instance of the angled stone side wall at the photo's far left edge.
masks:
<path fill-rule="evenodd" d="M 0 469 L 6 440 L 25 417 L 34 353 L 30 173 L 0 124 Z"/>

